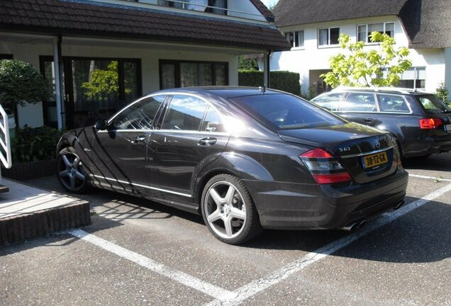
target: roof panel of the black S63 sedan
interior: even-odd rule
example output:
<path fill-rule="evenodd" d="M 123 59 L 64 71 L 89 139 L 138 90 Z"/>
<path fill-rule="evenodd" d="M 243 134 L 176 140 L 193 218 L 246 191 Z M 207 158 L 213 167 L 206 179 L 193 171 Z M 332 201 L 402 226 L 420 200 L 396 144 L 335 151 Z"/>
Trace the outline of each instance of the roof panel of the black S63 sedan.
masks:
<path fill-rule="evenodd" d="M 275 89 L 263 89 L 263 87 L 247 87 L 247 86 L 201 86 L 201 87 L 183 87 L 177 89 L 165 89 L 155 91 L 152 94 L 206 94 L 220 96 L 222 98 L 237 98 L 240 96 L 259 96 L 263 94 L 285 94 Z"/>

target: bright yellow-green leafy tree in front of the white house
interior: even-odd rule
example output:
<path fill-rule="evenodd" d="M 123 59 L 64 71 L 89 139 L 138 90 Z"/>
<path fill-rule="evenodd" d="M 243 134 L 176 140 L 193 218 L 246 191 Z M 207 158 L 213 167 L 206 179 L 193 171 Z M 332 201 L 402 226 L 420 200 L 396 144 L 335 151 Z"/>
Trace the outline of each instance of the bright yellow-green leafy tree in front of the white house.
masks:
<path fill-rule="evenodd" d="M 349 35 L 341 34 L 340 47 L 347 50 L 330 57 L 332 72 L 321 74 L 332 87 L 343 86 L 394 86 L 401 74 L 412 65 L 408 48 L 395 48 L 395 40 L 387 34 L 372 32 L 371 42 L 379 42 L 379 50 L 364 51 L 364 42 L 352 42 Z M 388 68 L 388 69 L 387 69 Z"/>

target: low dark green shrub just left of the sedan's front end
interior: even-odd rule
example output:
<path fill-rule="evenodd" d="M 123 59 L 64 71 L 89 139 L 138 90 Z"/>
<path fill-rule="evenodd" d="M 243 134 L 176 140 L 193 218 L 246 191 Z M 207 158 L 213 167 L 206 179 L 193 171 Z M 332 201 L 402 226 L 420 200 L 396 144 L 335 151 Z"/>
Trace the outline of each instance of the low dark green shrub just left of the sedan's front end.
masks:
<path fill-rule="evenodd" d="M 40 128 L 18 129 L 13 148 L 13 162 L 38 162 L 54 159 L 55 150 L 62 132 L 55 128 L 42 126 Z"/>

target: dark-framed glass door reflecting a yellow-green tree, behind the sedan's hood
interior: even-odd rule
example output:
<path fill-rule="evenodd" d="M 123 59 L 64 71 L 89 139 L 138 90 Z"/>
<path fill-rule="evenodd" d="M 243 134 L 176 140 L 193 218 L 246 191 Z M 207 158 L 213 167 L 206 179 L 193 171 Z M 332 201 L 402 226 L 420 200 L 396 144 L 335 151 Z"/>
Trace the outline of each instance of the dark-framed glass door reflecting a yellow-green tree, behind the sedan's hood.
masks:
<path fill-rule="evenodd" d="M 67 128 L 93 125 L 141 95 L 140 60 L 63 57 L 63 67 Z M 41 57 L 41 71 L 51 93 L 44 105 L 44 122 L 56 126 L 52 57 Z"/>

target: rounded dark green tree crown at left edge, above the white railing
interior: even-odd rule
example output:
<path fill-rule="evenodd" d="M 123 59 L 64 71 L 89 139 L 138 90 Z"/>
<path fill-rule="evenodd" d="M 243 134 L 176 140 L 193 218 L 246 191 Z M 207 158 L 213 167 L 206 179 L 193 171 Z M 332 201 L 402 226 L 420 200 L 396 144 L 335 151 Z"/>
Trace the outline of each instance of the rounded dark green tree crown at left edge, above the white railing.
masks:
<path fill-rule="evenodd" d="M 16 111 L 17 104 L 38 103 L 47 94 L 45 80 L 35 67 L 19 60 L 0 60 L 0 101 Z"/>

